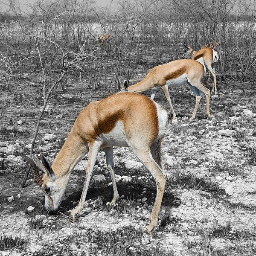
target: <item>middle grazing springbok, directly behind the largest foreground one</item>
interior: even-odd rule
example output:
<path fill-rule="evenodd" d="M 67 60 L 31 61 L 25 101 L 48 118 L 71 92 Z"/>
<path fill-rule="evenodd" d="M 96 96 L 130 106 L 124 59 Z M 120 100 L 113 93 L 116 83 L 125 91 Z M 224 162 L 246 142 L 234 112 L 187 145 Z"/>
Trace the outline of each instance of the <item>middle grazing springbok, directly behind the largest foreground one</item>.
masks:
<path fill-rule="evenodd" d="M 208 118 L 211 118 L 210 115 L 210 90 L 204 87 L 201 84 L 201 79 L 205 73 L 204 62 L 202 63 L 191 60 L 191 59 L 182 59 L 171 61 L 169 63 L 159 65 L 152 68 L 148 75 L 137 84 L 127 87 L 129 92 L 139 93 L 148 89 L 152 89 L 151 99 L 154 99 L 154 96 L 159 88 L 162 88 L 166 99 L 169 102 L 172 111 L 172 122 L 176 119 L 175 111 L 172 107 L 172 102 L 168 90 L 170 87 L 180 87 L 183 84 L 189 84 L 189 87 L 195 93 L 196 104 L 195 109 L 190 117 L 190 121 L 195 118 L 195 114 L 198 109 L 198 105 L 201 100 L 201 91 L 205 93 L 207 99 L 206 105 L 206 114 Z M 126 82 L 127 83 L 127 82 Z"/>

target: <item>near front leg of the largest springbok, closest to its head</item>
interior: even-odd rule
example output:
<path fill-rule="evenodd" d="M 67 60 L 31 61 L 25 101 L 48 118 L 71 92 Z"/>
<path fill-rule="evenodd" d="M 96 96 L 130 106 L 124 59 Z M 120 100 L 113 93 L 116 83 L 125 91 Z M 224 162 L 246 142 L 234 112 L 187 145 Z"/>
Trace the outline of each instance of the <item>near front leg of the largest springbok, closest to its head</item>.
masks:
<path fill-rule="evenodd" d="M 81 211 L 81 209 L 83 209 L 84 207 L 87 190 L 89 188 L 90 179 L 93 174 L 93 167 L 95 165 L 100 147 L 101 147 L 101 143 L 98 141 L 95 141 L 94 143 L 89 144 L 89 158 L 88 158 L 88 163 L 86 168 L 84 188 L 83 188 L 78 206 L 75 209 L 73 209 L 73 211 L 70 213 L 70 218 L 73 218 L 74 221 L 76 220 L 77 213 Z"/>

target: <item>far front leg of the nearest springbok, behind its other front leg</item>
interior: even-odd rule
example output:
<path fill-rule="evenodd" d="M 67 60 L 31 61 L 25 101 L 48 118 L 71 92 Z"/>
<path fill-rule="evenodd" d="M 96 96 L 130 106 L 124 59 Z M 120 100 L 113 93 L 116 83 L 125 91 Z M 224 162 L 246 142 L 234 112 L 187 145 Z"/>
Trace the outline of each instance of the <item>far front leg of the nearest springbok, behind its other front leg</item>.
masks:
<path fill-rule="evenodd" d="M 108 169 L 110 171 L 111 180 L 112 180 L 112 186 L 113 186 L 113 199 L 111 201 L 111 206 L 116 206 L 116 201 L 120 198 L 117 187 L 116 187 L 116 178 L 115 178 L 115 172 L 114 172 L 114 160 L 113 160 L 113 147 L 104 148 L 105 154 L 106 154 L 106 163 L 108 166 Z"/>

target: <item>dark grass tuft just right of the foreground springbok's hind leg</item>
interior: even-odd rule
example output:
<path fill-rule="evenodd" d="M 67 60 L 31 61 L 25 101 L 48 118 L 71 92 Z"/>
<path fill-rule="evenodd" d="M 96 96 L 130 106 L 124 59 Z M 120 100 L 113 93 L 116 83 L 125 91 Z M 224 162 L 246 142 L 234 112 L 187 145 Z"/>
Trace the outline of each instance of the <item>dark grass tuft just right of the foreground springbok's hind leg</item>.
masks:
<path fill-rule="evenodd" d="M 166 185 L 167 188 L 172 186 L 181 186 L 186 189 L 201 189 L 206 192 L 224 192 L 219 188 L 215 181 L 207 179 L 206 177 L 198 177 L 191 173 L 184 174 L 176 172 L 173 177 L 169 177 Z"/>

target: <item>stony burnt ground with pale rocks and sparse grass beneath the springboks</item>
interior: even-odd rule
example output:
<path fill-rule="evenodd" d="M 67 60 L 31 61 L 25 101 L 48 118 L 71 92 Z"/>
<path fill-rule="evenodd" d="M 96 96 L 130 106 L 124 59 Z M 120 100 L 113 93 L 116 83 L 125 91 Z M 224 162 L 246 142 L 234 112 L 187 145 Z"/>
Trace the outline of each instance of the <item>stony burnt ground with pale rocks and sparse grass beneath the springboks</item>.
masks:
<path fill-rule="evenodd" d="M 114 148 L 122 195 L 116 208 L 108 205 L 113 193 L 103 151 L 85 209 L 74 223 L 65 214 L 79 201 L 87 156 L 71 175 L 54 215 L 44 209 L 31 175 L 20 187 L 26 164 L 19 154 L 29 154 L 39 113 L 40 99 L 32 99 L 37 87 L 33 82 L 18 91 L 0 126 L 0 254 L 256 255 L 256 91 L 248 84 L 222 83 L 218 96 L 211 97 L 212 120 L 202 98 L 194 122 L 188 121 L 195 104 L 189 87 L 170 90 L 178 120 L 169 123 L 162 144 L 168 180 L 153 237 L 144 230 L 156 194 L 154 180 L 128 148 Z M 49 102 L 51 114 L 41 122 L 35 153 L 53 160 L 81 109 L 107 95 L 88 94 L 68 79 L 65 90 L 59 88 Z M 169 109 L 162 92 L 155 101 Z M 30 206 L 35 209 L 29 211 Z"/>

